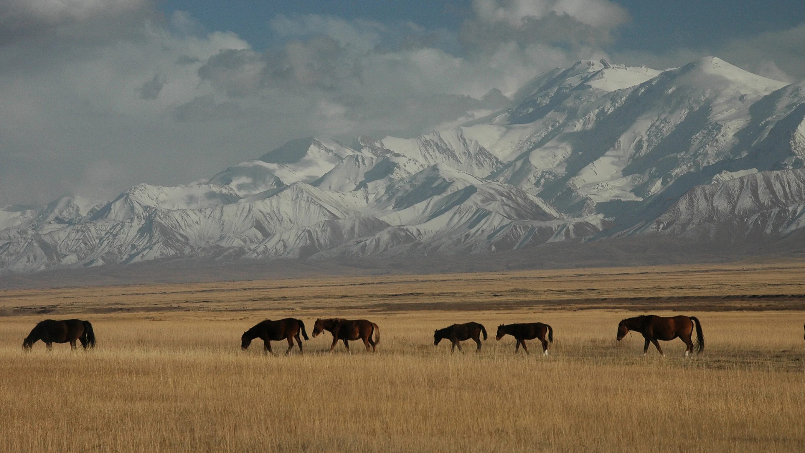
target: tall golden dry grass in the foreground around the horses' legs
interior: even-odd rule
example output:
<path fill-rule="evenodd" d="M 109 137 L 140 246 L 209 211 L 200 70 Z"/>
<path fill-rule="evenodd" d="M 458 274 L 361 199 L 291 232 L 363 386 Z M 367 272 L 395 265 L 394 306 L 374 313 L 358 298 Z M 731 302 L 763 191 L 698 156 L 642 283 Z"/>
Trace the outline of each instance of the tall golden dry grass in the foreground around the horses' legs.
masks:
<path fill-rule="evenodd" d="M 312 331 L 316 311 L 300 311 Z M 615 340 L 615 311 L 350 313 L 381 327 L 376 354 L 330 337 L 306 353 L 239 350 L 262 311 L 235 316 L 93 315 L 98 348 L 22 339 L 38 317 L 2 319 L 5 451 L 803 451 L 801 312 L 704 313 L 701 356 Z M 693 313 L 691 313 L 693 314 Z M 322 315 L 330 315 L 322 313 Z M 151 316 L 156 319 L 157 315 Z M 484 323 L 480 355 L 451 355 L 432 332 Z M 514 355 L 498 323 L 555 329 L 551 356 Z M 533 344 L 533 345 L 532 345 Z M 275 344 L 275 351 L 284 351 Z"/>

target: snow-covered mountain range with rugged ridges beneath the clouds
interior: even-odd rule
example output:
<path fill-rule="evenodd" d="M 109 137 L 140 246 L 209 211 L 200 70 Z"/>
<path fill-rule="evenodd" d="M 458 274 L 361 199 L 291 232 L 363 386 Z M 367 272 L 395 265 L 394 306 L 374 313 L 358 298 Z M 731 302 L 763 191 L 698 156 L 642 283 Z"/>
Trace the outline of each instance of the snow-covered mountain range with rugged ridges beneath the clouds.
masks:
<path fill-rule="evenodd" d="M 805 226 L 803 86 L 714 57 L 665 71 L 580 61 L 464 126 L 303 138 L 201 183 L 2 208 L 0 271 L 775 241 Z"/>

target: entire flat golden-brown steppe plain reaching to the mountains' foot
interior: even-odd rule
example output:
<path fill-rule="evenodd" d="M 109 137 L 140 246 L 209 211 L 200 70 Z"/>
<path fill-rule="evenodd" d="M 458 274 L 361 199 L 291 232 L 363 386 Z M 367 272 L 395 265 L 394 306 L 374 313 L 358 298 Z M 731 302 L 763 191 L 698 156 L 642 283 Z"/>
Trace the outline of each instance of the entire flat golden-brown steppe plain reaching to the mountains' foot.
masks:
<path fill-rule="evenodd" d="M 696 315 L 704 352 L 615 340 L 620 319 Z M 331 337 L 284 355 L 262 319 L 378 323 L 378 352 Z M 88 319 L 97 348 L 23 338 Z M 483 323 L 476 355 L 433 331 Z M 554 328 L 550 356 L 496 341 Z M 2 451 L 805 451 L 805 262 L 322 277 L 0 292 Z"/>

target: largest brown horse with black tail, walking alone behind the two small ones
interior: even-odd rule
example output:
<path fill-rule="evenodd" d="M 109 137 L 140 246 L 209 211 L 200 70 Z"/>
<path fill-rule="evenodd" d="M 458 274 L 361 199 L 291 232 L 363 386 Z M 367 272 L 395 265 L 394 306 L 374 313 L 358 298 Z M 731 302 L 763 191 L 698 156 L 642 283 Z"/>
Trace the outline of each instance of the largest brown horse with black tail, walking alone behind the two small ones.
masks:
<path fill-rule="evenodd" d="M 704 351 L 704 335 L 702 334 L 702 324 L 696 316 L 671 316 L 669 318 L 655 315 L 635 316 L 621 320 L 617 325 L 617 340 L 623 340 L 629 331 L 640 332 L 646 339 L 643 345 L 643 355 L 649 350 L 649 343 L 654 343 L 660 355 L 664 356 L 663 349 L 659 347 L 657 340 L 671 341 L 679 337 L 687 344 L 685 356 L 693 356 L 693 324 L 696 323 L 696 353 Z"/>

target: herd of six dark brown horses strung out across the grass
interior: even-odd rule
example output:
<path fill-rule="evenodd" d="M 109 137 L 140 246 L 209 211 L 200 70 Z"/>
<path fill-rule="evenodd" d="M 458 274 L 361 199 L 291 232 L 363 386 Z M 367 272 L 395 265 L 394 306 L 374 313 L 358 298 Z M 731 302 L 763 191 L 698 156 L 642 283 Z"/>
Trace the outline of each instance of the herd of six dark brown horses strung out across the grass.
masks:
<path fill-rule="evenodd" d="M 692 341 L 692 336 L 696 329 L 696 343 Z M 313 325 L 312 336 L 319 336 L 322 332 L 327 331 L 332 334 L 332 344 L 330 344 L 330 352 L 336 348 L 339 341 L 344 343 L 345 348 L 349 351 L 349 342 L 361 340 L 369 352 L 375 351 L 375 348 L 380 343 L 380 327 L 378 324 L 368 321 L 366 319 L 316 319 Z M 646 343 L 643 347 L 643 355 L 648 352 L 649 344 L 654 344 L 657 351 L 661 355 L 663 349 L 660 348 L 658 340 L 670 341 L 676 338 L 681 339 L 686 345 L 685 356 L 693 356 L 694 350 L 700 353 L 704 350 L 704 334 L 699 319 L 696 316 L 671 316 L 663 317 L 656 315 L 642 315 L 635 316 L 634 318 L 622 319 L 617 325 L 618 341 L 623 340 L 629 332 L 641 333 Z M 487 339 L 486 328 L 479 323 L 463 323 L 453 324 L 452 326 L 437 329 L 433 333 L 433 344 L 438 345 L 441 340 L 450 340 L 452 344 L 451 352 L 455 352 L 458 348 L 459 352 L 464 352 L 461 349 L 461 342 L 466 340 L 473 340 L 477 344 L 476 352 L 481 352 L 481 334 L 484 340 Z M 497 326 L 497 334 L 495 340 L 501 340 L 504 336 L 513 336 L 517 340 L 514 347 L 516 354 L 522 346 L 523 351 L 528 354 L 526 348 L 526 340 L 538 339 L 543 347 L 543 353 L 548 355 L 548 343 L 553 343 L 553 327 L 545 323 L 514 323 L 514 324 L 501 324 Z M 374 337 L 374 338 L 373 338 Z M 279 320 L 266 319 L 254 325 L 241 336 L 241 348 L 245 351 L 249 348 L 252 340 L 259 338 L 263 342 L 263 348 L 266 354 L 271 351 L 272 341 L 286 340 L 288 348 L 286 354 L 291 352 L 294 348 L 294 340 L 299 345 L 299 352 L 303 351 L 302 338 L 309 340 L 308 332 L 305 331 L 302 319 L 286 318 Z M 76 348 L 76 341 L 81 342 L 81 346 L 86 348 L 95 347 L 95 332 L 93 332 L 93 325 L 89 321 L 81 319 L 65 319 L 56 321 L 53 319 L 45 319 L 37 323 L 31 330 L 31 333 L 23 340 L 23 348 L 30 349 L 34 343 L 41 340 L 47 348 L 52 348 L 54 343 L 64 344 L 69 343 L 72 348 Z M 272 352 L 273 353 L 273 352 Z"/>

